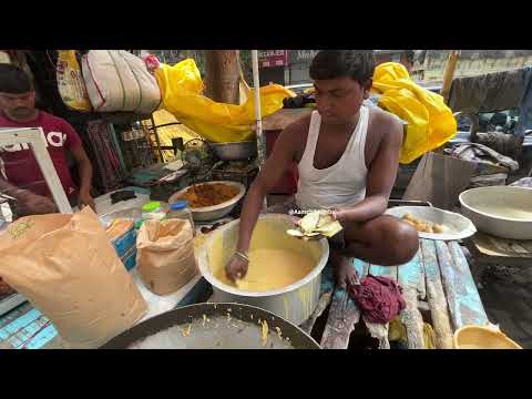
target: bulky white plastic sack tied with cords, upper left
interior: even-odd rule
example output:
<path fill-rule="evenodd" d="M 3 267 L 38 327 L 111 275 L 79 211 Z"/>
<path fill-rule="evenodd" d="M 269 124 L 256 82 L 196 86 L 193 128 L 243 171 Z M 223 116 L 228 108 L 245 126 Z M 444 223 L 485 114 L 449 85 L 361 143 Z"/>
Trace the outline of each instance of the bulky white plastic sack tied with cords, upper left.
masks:
<path fill-rule="evenodd" d="M 86 92 L 96 112 L 150 114 L 161 103 L 157 81 L 144 62 L 124 50 L 91 50 L 83 57 Z"/>

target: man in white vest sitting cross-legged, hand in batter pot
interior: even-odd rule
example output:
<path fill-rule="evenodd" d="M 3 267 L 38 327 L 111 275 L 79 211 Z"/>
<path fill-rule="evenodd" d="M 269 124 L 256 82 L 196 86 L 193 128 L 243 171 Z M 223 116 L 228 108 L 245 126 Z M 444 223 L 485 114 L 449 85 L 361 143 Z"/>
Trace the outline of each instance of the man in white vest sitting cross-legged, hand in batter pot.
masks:
<path fill-rule="evenodd" d="M 324 50 L 310 65 L 316 111 L 288 125 L 252 184 L 241 214 L 237 250 L 226 266 L 232 280 L 248 268 L 247 252 L 266 194 L 296 162 L 297 193 L 285 211 L 329 209 L 344 231 L 329 241 L 338 286 L 356 283 L 356 257 L 396 266 L 419 247 L 417 231 L 392 216 L 388 206 L 402 143 L 398 117 L 368 108 L 375 58 L 372 51 Z M 253 267 L 253 266 L 252 266 Z"/>

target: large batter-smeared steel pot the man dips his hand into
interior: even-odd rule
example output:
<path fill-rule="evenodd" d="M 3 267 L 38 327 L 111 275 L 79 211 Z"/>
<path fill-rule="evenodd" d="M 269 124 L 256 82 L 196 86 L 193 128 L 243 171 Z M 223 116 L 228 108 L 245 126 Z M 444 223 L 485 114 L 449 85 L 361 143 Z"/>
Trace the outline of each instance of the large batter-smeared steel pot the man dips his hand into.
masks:
<path fill-rule="evenodd" d="M 294 217 L 278 214 L 259 216 L 252 237 L 256 245 L 301 250 L 311 257 L 315 267 L 300 280 L 279 289 L 248 291 L 224 284 L 214 277 L 225 267 L 236 249 L 239 221 L 233 221 L 212 233 L 198 252 L 198 267 L 203 277 L 213 286 L 214 301 L 248 304 L 269 310 L 295 325 L 307 320 L 319 300 L 321 270 L 329 257 L 327 239 L 304 242 L 286 234 L 294 227 Z"/>

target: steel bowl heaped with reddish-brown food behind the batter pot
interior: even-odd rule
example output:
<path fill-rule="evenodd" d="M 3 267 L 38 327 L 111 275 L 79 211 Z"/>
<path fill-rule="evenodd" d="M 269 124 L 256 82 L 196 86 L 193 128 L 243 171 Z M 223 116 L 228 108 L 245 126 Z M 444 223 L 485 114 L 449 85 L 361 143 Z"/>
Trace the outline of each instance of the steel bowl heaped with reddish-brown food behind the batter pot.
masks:
<path fill-rule="evenodd" d="M 188 202 L 194 221 L 208 222 L 229 214 L 245 194 L 246 187 L 238 182 L 197 183 L 173 194 L 168 203 L 185 200 Z"/>

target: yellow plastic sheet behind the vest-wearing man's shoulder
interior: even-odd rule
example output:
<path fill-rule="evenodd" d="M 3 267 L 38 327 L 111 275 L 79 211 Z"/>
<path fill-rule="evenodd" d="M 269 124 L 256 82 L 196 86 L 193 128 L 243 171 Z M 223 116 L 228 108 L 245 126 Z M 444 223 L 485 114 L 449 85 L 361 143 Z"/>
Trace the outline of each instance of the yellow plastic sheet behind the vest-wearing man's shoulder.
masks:
<path fill-rule="evenodd" d="M 457 134 L 452 111 L 439 94 L 417 85 L 400 63 L 386 62 L 374 73 L 379 106 L 408 122 L 399 162 L 408 164 Z"/>

